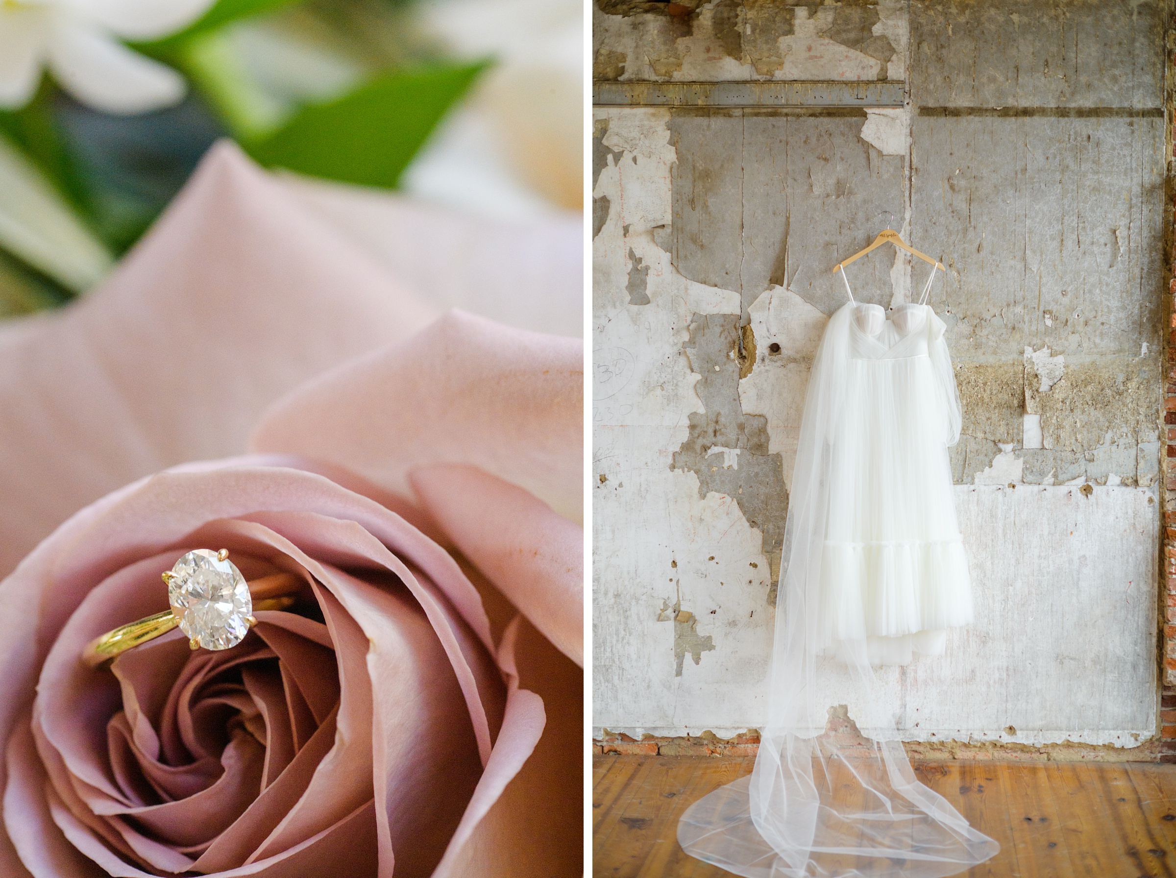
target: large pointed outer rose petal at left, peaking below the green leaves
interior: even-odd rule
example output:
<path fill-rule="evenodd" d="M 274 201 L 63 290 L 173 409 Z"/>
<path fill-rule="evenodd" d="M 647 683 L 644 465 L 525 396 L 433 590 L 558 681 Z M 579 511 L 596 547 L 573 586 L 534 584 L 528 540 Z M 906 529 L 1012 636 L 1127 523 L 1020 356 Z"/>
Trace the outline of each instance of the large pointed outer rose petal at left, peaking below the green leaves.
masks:
<path fill-rule="evenodd" d="M 0 334 L 0 575 L 108 491 L 243 450 L 273 400 L 434 316 L 218 145 L 100 288 Z"/>

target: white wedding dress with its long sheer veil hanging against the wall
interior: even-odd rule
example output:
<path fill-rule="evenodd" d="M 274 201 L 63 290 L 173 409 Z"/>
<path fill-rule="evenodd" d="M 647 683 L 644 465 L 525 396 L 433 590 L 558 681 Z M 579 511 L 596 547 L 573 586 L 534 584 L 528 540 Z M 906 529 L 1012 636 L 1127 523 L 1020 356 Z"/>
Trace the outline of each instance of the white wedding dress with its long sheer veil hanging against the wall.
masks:
<path fill-rule="evenodd" d="M 960 396 L 930 286 L 887 320 L 846 279 L 849 301 L 817 348 L 759 756 L 677 831 L 688 853 L 736 874 L 942 878 L 1000 850 L 916 780 L 897 697 L 871 668 L 942 655 L 947 629 L 973 617 L 947 453 Z"/>

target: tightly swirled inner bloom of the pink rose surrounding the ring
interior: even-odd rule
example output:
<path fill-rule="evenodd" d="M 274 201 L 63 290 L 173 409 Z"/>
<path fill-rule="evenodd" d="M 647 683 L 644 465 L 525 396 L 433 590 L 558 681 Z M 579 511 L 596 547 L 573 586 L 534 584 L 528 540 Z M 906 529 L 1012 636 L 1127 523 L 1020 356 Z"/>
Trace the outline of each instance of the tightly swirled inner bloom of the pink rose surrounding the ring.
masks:
<path fill-rule="evenodd" d="M 221 652 L 193 655 L 176 630 L 109 670 L 79 662 L 91 638 L 165 609 L 160 572 L 201 547 L 229 549 L 247 578 L 295 572 L 301 612 L 259 611 Z M 517 624 L 495 645 L 443 549 L 314 474 L 152 476 L 59 529 L 2 598 L 28 625 L 5 625 L 4 703 L 36 677 L 5 791 L 31 867 L 462 874 L 543 728 L 517 688 Z M 38 642 L 52 643 L 40 666 Z"/>

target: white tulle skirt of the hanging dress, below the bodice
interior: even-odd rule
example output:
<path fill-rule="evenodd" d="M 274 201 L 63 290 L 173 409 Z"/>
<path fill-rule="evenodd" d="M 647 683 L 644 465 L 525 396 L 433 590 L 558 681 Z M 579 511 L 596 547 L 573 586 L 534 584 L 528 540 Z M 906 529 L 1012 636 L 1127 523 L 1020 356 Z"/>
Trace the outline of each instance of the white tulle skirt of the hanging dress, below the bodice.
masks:
<path fill-rule="evenodd" d="M 973 621 L 944 415 L 928 356 L 853 358 L 831 447 L 820 649 L 866 639 L 871 664 L 942 655 Z"/>

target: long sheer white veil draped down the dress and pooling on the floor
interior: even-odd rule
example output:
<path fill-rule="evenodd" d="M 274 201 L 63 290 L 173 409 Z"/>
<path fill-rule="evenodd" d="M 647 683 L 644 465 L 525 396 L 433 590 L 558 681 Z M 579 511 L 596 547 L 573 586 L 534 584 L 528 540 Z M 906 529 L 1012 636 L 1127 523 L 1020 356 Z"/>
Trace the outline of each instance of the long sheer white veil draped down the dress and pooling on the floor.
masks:
<path fill-rule="evenodd" d="M 936 386 L 929 408 L 950 444 L 960 400 L 943 323 L 929 308 L 927 317 Z M 809 377 L 755 769 L 694 803 L 679 824 L 688 853 L 748 878 L 938 878 L 1000 850 L 915 778 L 896 729 L 897 699 L 870 666 L 876 638 L 864 626 L 830 626 L 822 609 L 830 483 L 850 421 L 851 320 L 851 304 L 830 317 Z"/>

